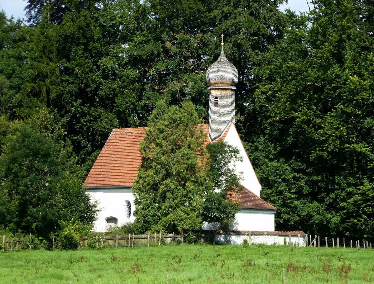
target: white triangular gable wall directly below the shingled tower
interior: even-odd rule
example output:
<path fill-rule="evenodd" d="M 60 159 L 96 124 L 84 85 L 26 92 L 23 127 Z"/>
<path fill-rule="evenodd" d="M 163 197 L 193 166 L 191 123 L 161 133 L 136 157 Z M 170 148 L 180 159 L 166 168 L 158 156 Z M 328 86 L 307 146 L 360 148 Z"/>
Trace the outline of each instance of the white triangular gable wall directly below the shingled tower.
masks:
<path fill-rule="evenodd" d="M 239 174 L 242 172 L 241 184 L 252 191 L 255 195 L 260 197 L 261 185 L 257 179 L 256 173 L 252 167 L 251 161 L 249 161 L 248 155 L 243 147 L 242 141 L 240 140 L 239 134 L 236 131 L 234 124 L 230 124 L 229 131 L 227 132 L 225 142 L 238 148 L 240 156 L 243 161 L 235 162 L 235 172 Z"/>

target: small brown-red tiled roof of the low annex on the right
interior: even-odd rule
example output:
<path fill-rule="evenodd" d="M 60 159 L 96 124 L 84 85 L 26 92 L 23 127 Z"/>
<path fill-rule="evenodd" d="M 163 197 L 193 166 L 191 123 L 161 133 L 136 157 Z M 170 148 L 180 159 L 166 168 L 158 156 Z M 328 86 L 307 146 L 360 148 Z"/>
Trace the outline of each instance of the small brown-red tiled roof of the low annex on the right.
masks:
<path fill-rule="evenodd" d="M 232 201 L 237 201 L 242 209 L 278 210 L 247 188 L 243 188 L 239 193 L 229 191 L 228 197 Z"/>

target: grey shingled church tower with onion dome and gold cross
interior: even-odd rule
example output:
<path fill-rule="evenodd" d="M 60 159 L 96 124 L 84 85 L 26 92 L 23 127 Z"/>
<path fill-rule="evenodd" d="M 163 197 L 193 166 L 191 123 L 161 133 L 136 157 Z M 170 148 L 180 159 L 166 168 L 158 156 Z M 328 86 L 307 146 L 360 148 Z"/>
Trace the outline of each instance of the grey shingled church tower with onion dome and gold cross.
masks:
<path fill-rule="evenodd" d="M 209 136 L 214 141 L 222 135 L 230 122 L 235 123 L 235 90 L 238 73 L 223 52 L 221 35 L 221 55 L 206 71 L 209 89 Z"/>

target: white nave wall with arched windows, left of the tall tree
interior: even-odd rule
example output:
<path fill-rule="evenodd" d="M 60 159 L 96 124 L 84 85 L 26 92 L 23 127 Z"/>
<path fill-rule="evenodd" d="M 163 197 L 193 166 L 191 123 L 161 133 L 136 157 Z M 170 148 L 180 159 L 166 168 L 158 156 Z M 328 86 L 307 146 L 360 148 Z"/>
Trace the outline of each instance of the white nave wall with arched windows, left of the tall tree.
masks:
<path fill-rule="evenodd" d="M 89 188 L 86 193 L 90 195 L 92 201 L 98 202 L 99 214 L 93 224 L 93 231 L 104 232 L 107 228 L 107 217 L 115 217 L 118 219 L 117 225 L 120 226 L 126 222 L 134 222 L 134 195 L 131 188 Z M 131 202 L 131 216 L 126 216 L 126 203 Z"/>

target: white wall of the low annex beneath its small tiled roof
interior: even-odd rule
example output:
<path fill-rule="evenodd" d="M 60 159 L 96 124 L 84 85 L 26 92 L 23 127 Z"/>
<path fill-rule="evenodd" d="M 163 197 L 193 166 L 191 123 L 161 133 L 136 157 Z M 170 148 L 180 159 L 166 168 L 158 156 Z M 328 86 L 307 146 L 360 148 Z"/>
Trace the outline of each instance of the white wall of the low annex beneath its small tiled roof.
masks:
<path fill-rule="evenodd" d="M 274 215 L 276 211 L 241 209 L 235 215 L 230 230 L 238 231 L 274 231 Z"/>

